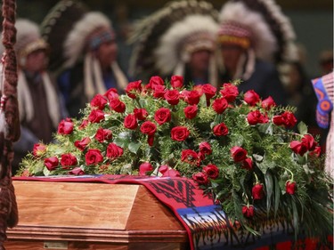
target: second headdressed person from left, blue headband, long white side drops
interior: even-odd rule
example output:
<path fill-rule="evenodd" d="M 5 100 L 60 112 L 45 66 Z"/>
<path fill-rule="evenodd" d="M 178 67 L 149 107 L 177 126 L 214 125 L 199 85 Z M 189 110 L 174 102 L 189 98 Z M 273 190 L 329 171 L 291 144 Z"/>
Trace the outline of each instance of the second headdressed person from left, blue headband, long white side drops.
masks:
<path fill-rule="evenodd" d="M 70 117 L 80 117 L 96 93 L 123 92 L 126 74 L 118 67 L 111 21 L 80 1 L 62 0 L 45 16 L 42 35 L 51 44 L 50 70 L 58 76 Z"/>

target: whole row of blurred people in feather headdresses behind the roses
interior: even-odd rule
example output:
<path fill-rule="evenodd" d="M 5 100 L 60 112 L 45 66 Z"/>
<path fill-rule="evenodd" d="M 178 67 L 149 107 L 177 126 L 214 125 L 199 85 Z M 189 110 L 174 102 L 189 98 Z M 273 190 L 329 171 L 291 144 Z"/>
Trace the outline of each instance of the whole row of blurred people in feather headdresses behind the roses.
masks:
<path fill-rule="evenodd" d="M 51 142 L 59 122 L 80 117 L 95 94 L 116 96 L 129 82 L 148 84 L 153 76 L 217 88 L 240 80 L 242 93 L 254 90 L 295 107 L 326 152 L 330 125 L 316 119 L 319 96 L 305 72 L 307 50 L 273 0 L 230 0 L 219 11 L 209 2 L 172 1 L 135 23 L 121 6 L 117 20 L 72 0 L 59 1 L 41 23 L 18 17 L 21 137 L 14 173 L 36 143 Z M 326 49 L 319 55 L 322 76 L 333 70 Z"/>

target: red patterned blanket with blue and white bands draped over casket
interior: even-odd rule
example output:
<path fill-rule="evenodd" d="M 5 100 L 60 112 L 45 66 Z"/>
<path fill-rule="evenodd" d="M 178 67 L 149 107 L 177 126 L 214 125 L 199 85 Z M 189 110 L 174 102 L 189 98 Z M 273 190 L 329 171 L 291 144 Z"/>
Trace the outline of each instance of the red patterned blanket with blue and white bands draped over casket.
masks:
<path fill-rule="evenodd" d="M 82 175 L 76 177 L 14 177 L 21 181 L 78 181 L 105 182 L 110 184 L 134 183 L 145 186 L 164 205 L 168 206 L 188 232 L 191 250 L 232 249 L 289 249 L 292 246 L 293 230 L 284 219 L 268 220 L 258 229 L 262 236 L 256 237 L 231 224 L 221 206 L 203 195 L 194 181 L 185 178 L 161 178 L 134 175 Z M 315 239 L 302 239 L 297 246 L 316 248 Z M 299 248 L 296 248 L 299 249 Z M 305 249 L 305 248 L 300 248 Z"/>

